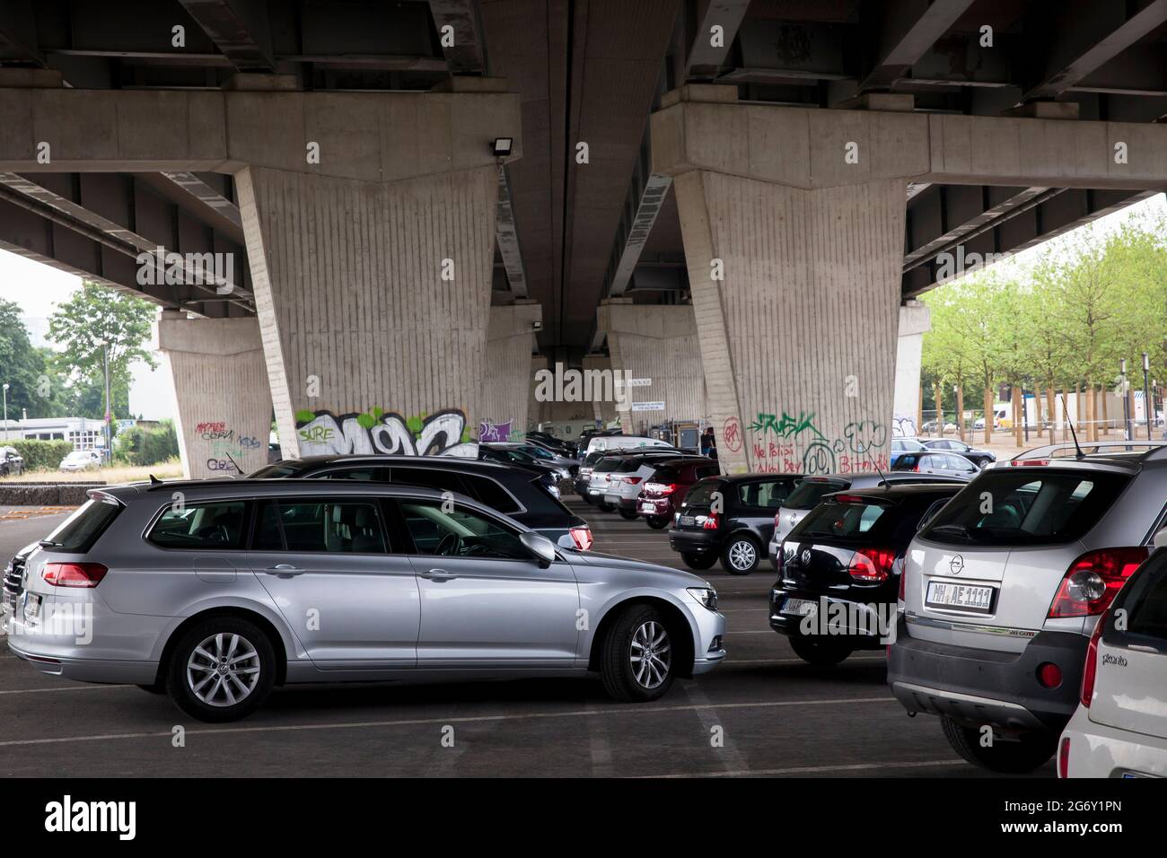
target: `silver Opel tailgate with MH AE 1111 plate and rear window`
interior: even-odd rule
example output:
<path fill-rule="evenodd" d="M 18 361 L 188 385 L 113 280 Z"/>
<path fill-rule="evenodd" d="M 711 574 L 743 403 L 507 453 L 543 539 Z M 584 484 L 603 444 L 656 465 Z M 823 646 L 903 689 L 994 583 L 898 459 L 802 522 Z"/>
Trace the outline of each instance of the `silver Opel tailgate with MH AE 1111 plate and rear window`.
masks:
<path fill-rule="evenodd" d="M 985 472 L 911 543 L 906 606 L 914 637 L 1021 651 L 1127 476 L 1020 467 Z M 1082 619 L 1061 626 L 1081 630 Z"/>

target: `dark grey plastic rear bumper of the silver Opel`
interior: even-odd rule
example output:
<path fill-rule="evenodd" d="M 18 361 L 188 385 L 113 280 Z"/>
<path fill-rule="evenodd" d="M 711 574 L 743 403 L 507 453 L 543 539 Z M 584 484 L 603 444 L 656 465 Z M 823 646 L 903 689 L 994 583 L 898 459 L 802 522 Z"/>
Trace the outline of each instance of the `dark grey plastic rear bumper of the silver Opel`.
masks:
<path fill-rule="evenodd" d="M 1089 640 L 1040 632 L 1021 653 L 956 647 L 909 636 L 901 619 L 887 662 L 887 684 L 909 712 L 948 716 L 970 726 L 1061 731 L 1074 714 Z M 1056 689 L 1037 683 L 1044 662 L 1062 671 Z"/>

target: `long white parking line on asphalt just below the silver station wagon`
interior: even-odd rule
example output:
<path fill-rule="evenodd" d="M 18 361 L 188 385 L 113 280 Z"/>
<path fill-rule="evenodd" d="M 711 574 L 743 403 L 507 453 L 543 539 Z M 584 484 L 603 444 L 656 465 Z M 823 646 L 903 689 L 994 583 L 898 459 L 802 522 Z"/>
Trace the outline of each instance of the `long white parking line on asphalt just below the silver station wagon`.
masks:
<path fill-rule="evenodd" d="M 232 735 L 243 733 L 287 733 L 300 730 L 361 730 L 363 727 L 412 727 L 426 724 L 475 724 L 488 721 L 519 721 L 519 720 L 544 720 L 554 718 L 592 718 L 596 716 L 622 716 L 622 714 L 645 714 L 650 712 L 698 712 L 707 709 L 784 709 L 788 706 L 838 706 L 855 705 L 864 703 L 894 703 L 899 700 L 894 697 L 845 697 L 839 699 L 813 699 L 813 700 L 753 700 L 749 703 L 719 703 L 712 706 L 609 706 L 606 709 L 582 709 L 566 712 L 519 712 L 517 714 L 498 716 L 464 716 L 460 718 L 410 718 L 393 721 L 340 721 L 336 724 L 285 724 L 266 727 L 208 727 L 204 730 L 188 730 L 187 735 Z M 98 735 L 64 735 L 51 739 L 14 739 L 0 741 L 0 748 L 16 747 L 21 745 L 63 745 L 81 741 L 113 741 L 116 739 L 169 739 L 172 731 L 158 733 L 106 733 Z"/>

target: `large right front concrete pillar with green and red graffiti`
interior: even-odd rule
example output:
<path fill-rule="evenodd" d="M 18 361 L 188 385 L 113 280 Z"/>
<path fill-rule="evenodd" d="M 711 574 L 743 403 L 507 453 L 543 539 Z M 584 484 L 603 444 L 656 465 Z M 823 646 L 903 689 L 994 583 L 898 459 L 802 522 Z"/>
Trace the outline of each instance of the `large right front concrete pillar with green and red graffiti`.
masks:
<path fill-rule="evenodd" d="M 652 169 L 673 176 L 722 468 L 886 470 L 906 179 L 928 149 L 875 113 L 708 89 L 665 96 Z"/>

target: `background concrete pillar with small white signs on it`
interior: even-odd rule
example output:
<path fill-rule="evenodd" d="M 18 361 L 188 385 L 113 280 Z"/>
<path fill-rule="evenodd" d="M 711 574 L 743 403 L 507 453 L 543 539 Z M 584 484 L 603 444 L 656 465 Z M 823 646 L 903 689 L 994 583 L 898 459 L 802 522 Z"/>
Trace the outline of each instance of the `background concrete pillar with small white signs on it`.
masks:
<path fill-rule="evenodd" d="M 626 433 L 640 434 L 661 423 L 706 416 L 692 306 L 636 305 L 628 298 L 609 298 L 600 304 L 596 325 L 607 336 L 613 371 L 634 385 L 627 403 L 630 407 L 621 411 Z M 663 407 L 636 407 L 658 403 Z"/>

